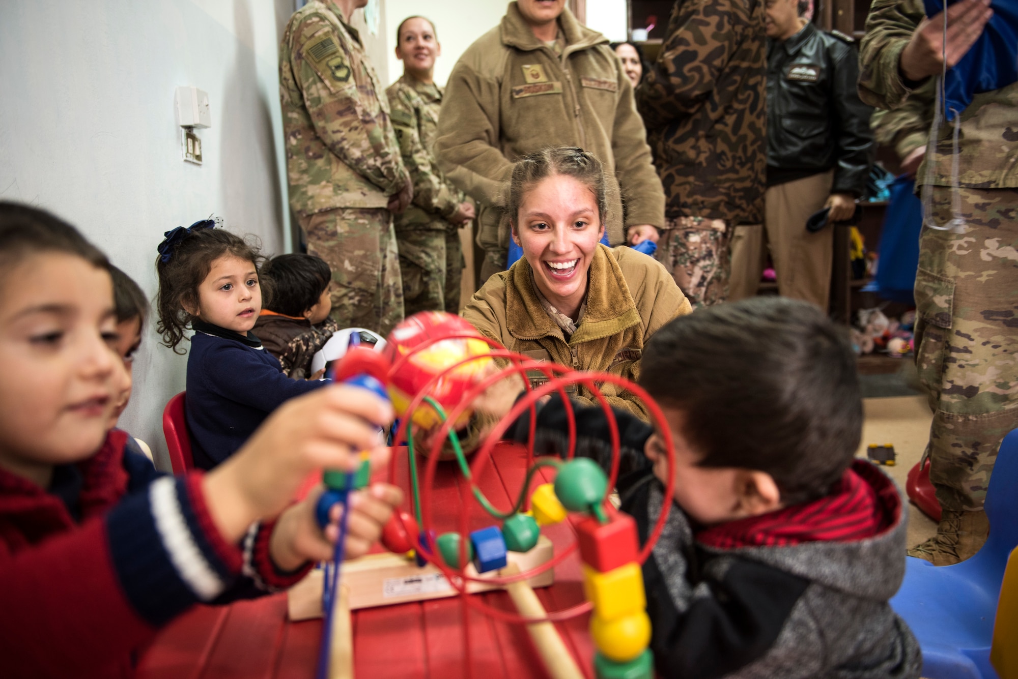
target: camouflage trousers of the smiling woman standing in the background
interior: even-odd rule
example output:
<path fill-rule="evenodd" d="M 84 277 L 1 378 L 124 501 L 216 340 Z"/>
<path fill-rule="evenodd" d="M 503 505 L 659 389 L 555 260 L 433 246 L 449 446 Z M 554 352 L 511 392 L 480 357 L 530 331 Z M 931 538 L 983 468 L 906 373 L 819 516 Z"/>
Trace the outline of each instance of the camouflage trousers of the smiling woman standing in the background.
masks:
<path fill-rule="evenodd" d="M 463 248 L 459 231 L 400 231 L 399 269 L 403 279 L 406 315 L 418 311 L 459 313 L 459 287 L 463 276 Z"/>

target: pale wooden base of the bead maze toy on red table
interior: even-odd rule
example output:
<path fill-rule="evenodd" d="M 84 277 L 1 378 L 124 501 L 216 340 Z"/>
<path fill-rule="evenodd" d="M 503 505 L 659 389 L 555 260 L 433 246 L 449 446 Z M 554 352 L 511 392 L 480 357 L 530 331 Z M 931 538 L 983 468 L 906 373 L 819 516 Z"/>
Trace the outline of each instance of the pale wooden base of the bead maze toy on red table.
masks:
<path fill-rule="evenodd" d="M 508 561 L 509 564 L 515 564 L 519 571 L 526 571 L 549 561 L 554 553 L 552 541 L 541 536 L 538 546 L 529 552 L 509 552 Z M 418 568 L 416 563 L 400 554 L 369 554 L 345 562 L 340 572 L 341 583 L 349 593 L 351 611 L 442 599 L 458 594 L 437 566 L 429 563 Z M 472 565 L 467 566 L 466 573 L 471 577 L 477 575 Z M 497 577 L 498 574 L 498 571 L 492 571 L 482 577 Z M 322 569 L 316 568 L 287 592 L 287 614 L 290 620 L 322 617 Z M 554 568 L 527 580 L 531 588 L 548 587 L 554 582 Z M 469 593 L 497 589 L 501 589 L 501 585 L 473 581 L 466 585 Z"/>

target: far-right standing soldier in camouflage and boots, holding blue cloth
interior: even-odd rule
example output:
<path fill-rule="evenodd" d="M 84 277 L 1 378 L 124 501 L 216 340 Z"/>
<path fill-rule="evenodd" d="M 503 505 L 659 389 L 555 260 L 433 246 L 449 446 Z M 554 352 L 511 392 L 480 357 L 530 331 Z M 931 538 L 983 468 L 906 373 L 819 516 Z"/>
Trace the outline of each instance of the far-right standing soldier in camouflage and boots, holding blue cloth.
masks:
<path fill-rule="evenodd" d="M 860 53 L 862 101 L 892 111 L 909 106 L 945 61 L 950 68 L 968 52 L 993 13 L 988 5 L 951 5 L 945 42 L 944 13 L 923 21 L 921 0 L 875 0 Z M 920 101 L 913 115 L 925 107 Z M 967 559 L 982 546 L 989 475 L 1001 440 L 1018 427 L 1016 107 L 1018 83 L 975 95 L 958 114 L 957 176 L 953 124 L 930 140 L 916 175 L 932 197 L 915 279 L 916 365 L 934 411 L 926 454 L 943 517 L 937 535 L 908 553 L 935 565 Z M 955 199 L 964 225 L 945 230 Z"/>

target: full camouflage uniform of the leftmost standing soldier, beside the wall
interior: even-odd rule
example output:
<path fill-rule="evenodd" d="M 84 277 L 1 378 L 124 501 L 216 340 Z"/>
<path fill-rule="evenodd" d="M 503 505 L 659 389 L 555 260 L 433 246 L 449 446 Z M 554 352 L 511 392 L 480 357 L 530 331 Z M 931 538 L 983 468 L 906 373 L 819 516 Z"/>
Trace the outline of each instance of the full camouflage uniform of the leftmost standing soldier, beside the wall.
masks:
<path fill-rule="evenodd" d="M 386 205 L 409 177 L 378 75 L 334 5 L 310 0 L 290 17 L 279 80 L 290 206 L 332 268 L 332 316 L 384 334 L 403 318 Z"/>

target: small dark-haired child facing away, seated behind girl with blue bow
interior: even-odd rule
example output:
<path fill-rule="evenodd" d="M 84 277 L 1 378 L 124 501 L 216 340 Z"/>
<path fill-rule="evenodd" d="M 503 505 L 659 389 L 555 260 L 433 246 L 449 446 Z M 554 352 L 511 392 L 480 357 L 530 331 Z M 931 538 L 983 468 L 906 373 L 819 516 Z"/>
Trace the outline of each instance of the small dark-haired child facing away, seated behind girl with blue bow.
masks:
<path fill-rule="evenodd" d="M 262 275 L 272 283 L 272 299 L 254 323 L 262 346 L 279 359 L 288 377 L 319 379 L 322 373 L 312 373 L 312 358 L 339 329 L 329 317 L 332 269 L 314 255 L 285 254 L 266 262 Z"/>

